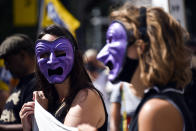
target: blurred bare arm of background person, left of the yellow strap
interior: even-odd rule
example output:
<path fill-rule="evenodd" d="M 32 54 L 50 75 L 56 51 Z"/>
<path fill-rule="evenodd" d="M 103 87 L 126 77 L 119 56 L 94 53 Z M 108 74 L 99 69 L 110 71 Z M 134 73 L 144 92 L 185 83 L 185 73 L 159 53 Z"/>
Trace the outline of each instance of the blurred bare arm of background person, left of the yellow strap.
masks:
<path fill-rule="evenodd" d="M 111 104 L 110 131 L 118 131 L 120 127 L 120 103 Z"/>

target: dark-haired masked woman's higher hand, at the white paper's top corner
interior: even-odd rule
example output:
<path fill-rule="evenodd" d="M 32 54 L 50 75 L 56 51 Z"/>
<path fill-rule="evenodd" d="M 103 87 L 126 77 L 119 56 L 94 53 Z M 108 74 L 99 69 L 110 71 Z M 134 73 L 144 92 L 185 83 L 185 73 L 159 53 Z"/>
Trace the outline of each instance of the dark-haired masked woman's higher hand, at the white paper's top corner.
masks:
<path fill-rule="evenodd" d="M 45 97 L 43 91 L 34 91 L 33 92 L 33 100 L 37 100 L 39 104 L 44 108 L 48 109 L 48 99 Z"/>

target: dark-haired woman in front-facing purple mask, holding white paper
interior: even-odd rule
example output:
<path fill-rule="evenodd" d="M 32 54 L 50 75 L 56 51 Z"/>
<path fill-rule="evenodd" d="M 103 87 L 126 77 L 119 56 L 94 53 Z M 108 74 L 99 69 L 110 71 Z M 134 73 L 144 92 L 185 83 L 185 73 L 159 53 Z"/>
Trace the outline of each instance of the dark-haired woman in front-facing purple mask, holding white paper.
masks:
<path fill-rule="evenodd" d="M 84 68 L 71 33 L 58 25 L 46 27 L 36 41 L 35 53 L 40 91 L 34 92 L 34 99 L 66 126 L 89 123 L 107 130 L 103 99 Z M 26 131 L 32 129 L 29 116 L 33 113 L 34 102 L 25 103 L 20 111 Z"/>

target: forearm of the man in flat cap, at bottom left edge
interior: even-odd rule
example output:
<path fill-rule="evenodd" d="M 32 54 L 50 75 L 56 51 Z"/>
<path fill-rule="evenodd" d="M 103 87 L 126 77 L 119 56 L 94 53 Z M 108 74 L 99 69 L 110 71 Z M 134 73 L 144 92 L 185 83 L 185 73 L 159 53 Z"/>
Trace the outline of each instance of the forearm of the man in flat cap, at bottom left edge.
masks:
<path fill-rule="evenodd" d="M 22 131 L 22 124 L 0 124 L 0 131 Z"/>

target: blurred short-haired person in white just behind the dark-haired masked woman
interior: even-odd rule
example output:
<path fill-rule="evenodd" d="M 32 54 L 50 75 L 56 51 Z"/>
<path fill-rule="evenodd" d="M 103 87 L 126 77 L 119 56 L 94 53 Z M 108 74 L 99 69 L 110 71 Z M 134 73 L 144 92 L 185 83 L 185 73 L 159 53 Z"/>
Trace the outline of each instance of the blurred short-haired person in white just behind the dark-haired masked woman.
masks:
<path fill-rule="evenodd" d="M 97 60 L 97 50 L 90 48 L 83 54 L 85 68 L 93 82 L 93 85 L 102 93 L 108 116 L 110 116 L 110 95 L 114 85 L 108 81 L 108 69 Z M 109 121 L 108 121 L 109 122 Z"/>

